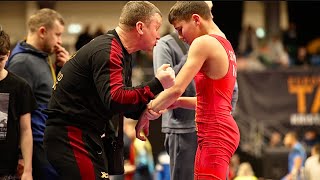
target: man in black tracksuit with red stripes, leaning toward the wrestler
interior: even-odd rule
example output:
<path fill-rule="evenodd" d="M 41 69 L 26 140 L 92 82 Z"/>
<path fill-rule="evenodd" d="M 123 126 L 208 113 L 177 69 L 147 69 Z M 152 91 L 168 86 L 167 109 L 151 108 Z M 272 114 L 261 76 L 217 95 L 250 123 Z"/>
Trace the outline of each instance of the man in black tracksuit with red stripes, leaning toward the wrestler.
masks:
<path fill-rule="evenodd" d="M 169 65 L 132 87 L 132 57 L 152 50 L 162 16 L 150 2 L 128 2 L 119 25 L 83 46 L 63 66 L 47 109 L 44 146 L 60 179 L 108 179 L 100 136 L 113 115 L 138 119 L 148 102 L 174 84 Z"/>

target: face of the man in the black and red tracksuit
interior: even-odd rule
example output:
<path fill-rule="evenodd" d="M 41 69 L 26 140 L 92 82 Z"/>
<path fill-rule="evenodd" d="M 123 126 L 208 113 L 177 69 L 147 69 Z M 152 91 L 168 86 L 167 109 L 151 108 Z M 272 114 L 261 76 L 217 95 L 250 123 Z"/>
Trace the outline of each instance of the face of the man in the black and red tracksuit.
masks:
<path fill-rule="evenodd" d="M 162 24 L 162 17 L 156 13 L 150 17 L 148 23 L 144 23 L 142 26 L 142 50 L 151 51 L 160 39 L 160 26 Z"/>

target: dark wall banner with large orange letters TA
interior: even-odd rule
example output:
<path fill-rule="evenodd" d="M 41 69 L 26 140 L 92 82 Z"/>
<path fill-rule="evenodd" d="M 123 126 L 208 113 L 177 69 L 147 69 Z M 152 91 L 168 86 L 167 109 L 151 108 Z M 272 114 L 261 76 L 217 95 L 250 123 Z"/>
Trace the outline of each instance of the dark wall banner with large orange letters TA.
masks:
<path fill-rule="evenodd" d="M 237 119 L 269 130 L 320 130 L 320 68 L 239 72 L 238 84 Z"/>

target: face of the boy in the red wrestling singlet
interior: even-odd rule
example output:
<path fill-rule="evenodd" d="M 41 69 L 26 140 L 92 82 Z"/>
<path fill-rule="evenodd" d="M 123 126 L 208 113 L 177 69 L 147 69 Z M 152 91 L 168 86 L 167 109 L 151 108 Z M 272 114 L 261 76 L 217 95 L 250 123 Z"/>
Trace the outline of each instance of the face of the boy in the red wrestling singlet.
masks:
<path fill-rule="evenodd" d="M 192 18 L 189 21 L 175 21 L 173 26 L 177 30 L 179 38 L 189 45 L 195 38 L 197 38 L 196 23 L 192 20 Z"/>

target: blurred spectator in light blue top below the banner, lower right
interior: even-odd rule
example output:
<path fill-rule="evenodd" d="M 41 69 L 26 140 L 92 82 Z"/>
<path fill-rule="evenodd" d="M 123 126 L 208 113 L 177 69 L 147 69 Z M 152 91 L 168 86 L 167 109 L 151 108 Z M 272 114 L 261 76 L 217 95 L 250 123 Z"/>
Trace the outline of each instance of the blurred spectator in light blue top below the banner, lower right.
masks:
<path fill-rule="evenodd" d="M 288 156 L 288 174 L 282 180 L 297 179 L 302 176 L 302 168 L 306 160 L 306 151 L 302 144 L 298 141 L 298 136 L 295 132 L 288 132 L 283 140 L 286 147 L 290 149 Z"/>

